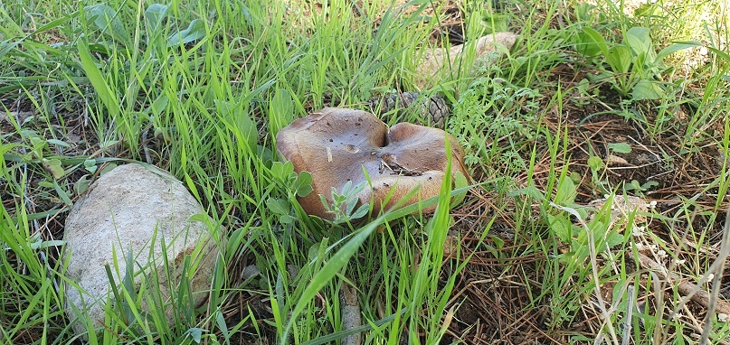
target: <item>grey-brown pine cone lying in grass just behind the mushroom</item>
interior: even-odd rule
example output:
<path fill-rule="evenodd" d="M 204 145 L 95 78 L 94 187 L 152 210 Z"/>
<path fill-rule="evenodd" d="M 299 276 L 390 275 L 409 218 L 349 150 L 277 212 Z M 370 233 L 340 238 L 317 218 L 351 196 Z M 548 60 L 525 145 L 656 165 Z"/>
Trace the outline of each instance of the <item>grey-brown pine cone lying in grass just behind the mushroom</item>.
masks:
<path fill-rule="evenodd" d="M 395 109 L 400 114 L 400 111 L 403 109 L 411 107 L 421 117 L 428 119 L 431 122 L 431 126 L 443 127 L 446 117 L 449 117 L 451 113 L 449 106 L 446 104 L 446 100 L 441 98 L 441 96 L 419 99 L 419 95 L 420 93 L 418 92 L 390 93 L 381 98 L 370 98 L 368 103 L 370 110 L 379 116 Z"/>

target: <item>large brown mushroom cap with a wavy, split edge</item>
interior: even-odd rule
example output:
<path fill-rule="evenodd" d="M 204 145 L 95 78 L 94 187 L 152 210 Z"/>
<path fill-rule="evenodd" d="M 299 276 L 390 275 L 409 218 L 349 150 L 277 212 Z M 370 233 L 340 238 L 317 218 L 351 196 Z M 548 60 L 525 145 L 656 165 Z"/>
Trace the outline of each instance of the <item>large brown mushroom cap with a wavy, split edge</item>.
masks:
<path fill-rule="evenodd" d="M 356 185 L 369 177 L 372 184 L 358 198 L 361 203 L 373 203 L 374 212 L 418 187 L 420 191 L 407 204 L 438 195 L 448 164 L 446 138 L 450 141 L 451 172 L 468 176 L 464 151 L 452 135 L 409 123 L 388 130 L 373 114 L 355 109 L 327 107 L 299 118 L 279 131 L 276 146 L 297 173 L 312 175 L 314 191 L 299 199 L 302 208 L 308 214 L 333 219 L 318 194 L 331 203 L 331 189 L 341 191 L 346 182 Z"/>

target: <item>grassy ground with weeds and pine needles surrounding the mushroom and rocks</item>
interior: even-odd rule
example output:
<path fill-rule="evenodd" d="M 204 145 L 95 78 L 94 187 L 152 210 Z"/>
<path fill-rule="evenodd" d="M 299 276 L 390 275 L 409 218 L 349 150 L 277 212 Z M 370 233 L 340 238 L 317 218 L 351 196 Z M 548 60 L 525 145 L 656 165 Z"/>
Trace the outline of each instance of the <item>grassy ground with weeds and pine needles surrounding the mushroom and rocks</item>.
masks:
<path fill-rule="evenodd" d="M 638 255 L 693 283 L 725 259 L 727 14 L 710 1 L 581 3 L 0 5 L 0 340 L 81 342 L 63 312 L 63 220 L 90 181 L 133 160 L 184 182 L 226 240 L 206 306 L 189 305 L 183 284 L 168 325 L 154 287 L 118 282 L 104 326 L 86 326 L 91 343 L 337 342 L 353 332 L 345 285 L 367 344 L 726 341 L 727 322 Z M 438 204 L 433 215 L 304 214 L 306 178 L 279 163 L 276 133 L 321 107 L 417 90 L 415 57 L 449 45 L 433 33 L 460 18 L 467 42 L 519 33 L 476 75 L 463 67 L 421 90 L 451 103 L 466 199 L 450 208 L 460 198 L 446 182 L 422 205 Z M 638 27 L 648 51 L 630 41 Z M 676 42 L 691 48 L 646 59 Z M 600 44 L 624 47 L 628 64 L 590 53 Z M 420 117 L 390 114 L 391 125 Z M 646 224 L 585 208 L 624 193 L 657 201 L 627 216 Z"/>

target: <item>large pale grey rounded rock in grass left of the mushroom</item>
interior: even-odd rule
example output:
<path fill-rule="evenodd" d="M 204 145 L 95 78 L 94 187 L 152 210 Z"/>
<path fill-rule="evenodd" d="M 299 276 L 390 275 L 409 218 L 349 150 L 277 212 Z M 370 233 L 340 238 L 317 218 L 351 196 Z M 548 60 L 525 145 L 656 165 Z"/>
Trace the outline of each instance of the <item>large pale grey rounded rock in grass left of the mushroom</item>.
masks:
<path fill-rule="evenodd" d="M 81 322 L 90 319 L 95 328 L 103 325 L 105 303 L 114 297 L 105 266 L 109 265 L 119 286 L 125 279 L 130 250 L 135 263 L 134 286 L 137 291 L 142 284 L 146 287 L 143 310 L 149 308 L 147 301 L 161 296 L 167 322 L 172 322 L 175 303 L 170 303 L 170 299 L 175 291 L 169 287 L 177 289 L 186 256 L 190 256 L 194 268 L 187 272 L 192 275 L 192 303 L 202 305 L 207 300 L 218 255 L 212 232 L 219 230 L 189 219 L 200 214 L 204 210 L 190 192 L 166 173 L 125 164 L 101 176 L 76 201 L 66 219 L 66 276 L 81 287 L 79 290 L 69 282 L 65 284 L 69 318 Z M 220 238 L 220 234 L 214 236 Z M 86 329 L 81 322 L 73 322 L 72 327 L 83 335 Z"/>

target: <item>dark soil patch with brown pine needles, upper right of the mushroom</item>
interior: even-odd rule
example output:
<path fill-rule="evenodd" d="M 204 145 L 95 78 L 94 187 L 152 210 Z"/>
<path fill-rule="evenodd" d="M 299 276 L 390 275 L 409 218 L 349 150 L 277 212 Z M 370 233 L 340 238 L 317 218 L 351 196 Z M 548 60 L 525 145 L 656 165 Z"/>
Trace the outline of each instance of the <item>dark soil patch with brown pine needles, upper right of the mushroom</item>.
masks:
<path fill-rule="evenodd" d="M 570 89 L 589 73 L 593 71 L 561 65 L 551 78 Z M 660 121 L 659 104 L 642 101 L 621 106 L 621 95 L 610 84 L 598 88 L 600 96 L 584 104 L 576 103 L 581 95 L 574 89 L 572 98 L 564 102 L 563 112 L 553 111 L 545 118 L 547 126 L 567 126 L 570 145 L 564 160 L 570 162 L 571 172 L 583 176 L 578 201 L 590 201 L 606 190 L 623 188 L 659 204 L 676 204 L 680 196 L 701 194 L 697 203 L 714 209 L 715 197 L 707 185 L 721 173 L 725 157 L 711 139 L 697 140 L 691 146 L 683 144 L 688 142 L 687 117 L 692 117 L 694 109 L 687 105 L 674 108 L 672 120 L 652 131 L 645 128 Z M 717 126 L 715 137 L 723 135 L 723 129 Z M 601 181 L 593 181 L 588 162 L 591 157 L 600 158 L 605 166 L 599 176 L 607 182 L 603 186 L 597 184 Z"/>

